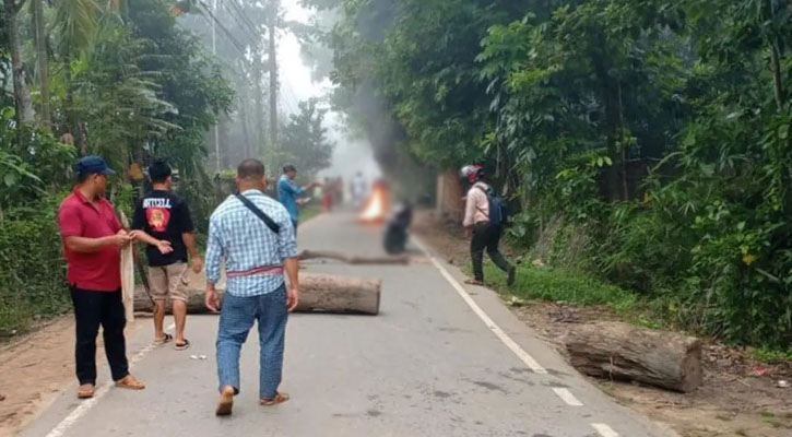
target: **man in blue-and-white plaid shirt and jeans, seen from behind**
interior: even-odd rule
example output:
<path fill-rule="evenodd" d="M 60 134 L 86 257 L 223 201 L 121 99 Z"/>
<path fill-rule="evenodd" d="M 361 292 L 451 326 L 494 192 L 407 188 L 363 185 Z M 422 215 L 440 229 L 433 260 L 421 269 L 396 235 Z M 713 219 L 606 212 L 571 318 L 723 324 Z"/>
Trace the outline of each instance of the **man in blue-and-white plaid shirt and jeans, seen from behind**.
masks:
<path fill-rule="evenodd" d="M 271 229 L 263 220 L 235 196 L 228 197 L 212 213 L 206 249 L 206 307 L 221 311 L 217 329 L 217 415 L 232 412 L 239 393 L 239 351 L 253 323 L 259 322 L 259 399 L 262 405 L 288 400 L 277 391 L 283 368 L 283 349 L 288 311 L 299 302 L 297 244 L 294 225 L 286 209 L 264 196 L 264 165 L 246 160 L 237 168 L 239 193 L 277 226 Z M 225 263 L 226 293 L 223 308 L 215 284 Z M 288 275 L 286 290 L 283 274 Z"/>

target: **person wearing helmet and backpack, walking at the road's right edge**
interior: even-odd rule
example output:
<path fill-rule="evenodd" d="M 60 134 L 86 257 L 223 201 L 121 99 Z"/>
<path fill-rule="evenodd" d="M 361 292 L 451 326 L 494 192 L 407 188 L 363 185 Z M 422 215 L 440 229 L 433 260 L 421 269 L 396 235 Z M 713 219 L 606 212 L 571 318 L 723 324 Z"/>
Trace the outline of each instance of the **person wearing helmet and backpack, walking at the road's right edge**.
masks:
<path fill-rule="evenodd" d="M 503 214 L 490 211 L 500 208 L 494 201 L 492 187 L 486 182 L 481 165 L 462 167 L 460 175 L 470 184 L 464 208 L 465 235 L 471 238 L 470 251 L 473 261 L 473 279 L 465 281 L 472 285 L 484 285 L 484 249 L 495 264 L 508 274 L 507 283 L 515 283 L 515 267 L 500 253 L 500 235 L 503 233 Z"/>

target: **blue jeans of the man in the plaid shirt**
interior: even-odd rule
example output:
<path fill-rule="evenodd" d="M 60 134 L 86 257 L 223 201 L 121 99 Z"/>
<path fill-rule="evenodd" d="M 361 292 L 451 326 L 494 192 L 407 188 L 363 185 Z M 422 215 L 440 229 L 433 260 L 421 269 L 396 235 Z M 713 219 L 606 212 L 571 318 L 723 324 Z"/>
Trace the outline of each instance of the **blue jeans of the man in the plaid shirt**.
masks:
<path fill-rule="evenodd" d="M 217 330 L 217 378 L 220 389 L 234 387 L 239 393 L 239 351 L 253 323 L 259 322 L 259 397 L 273 398 L 281 383 L 286 336 L 286 288 L 252 297 L 223 297 Z"/>

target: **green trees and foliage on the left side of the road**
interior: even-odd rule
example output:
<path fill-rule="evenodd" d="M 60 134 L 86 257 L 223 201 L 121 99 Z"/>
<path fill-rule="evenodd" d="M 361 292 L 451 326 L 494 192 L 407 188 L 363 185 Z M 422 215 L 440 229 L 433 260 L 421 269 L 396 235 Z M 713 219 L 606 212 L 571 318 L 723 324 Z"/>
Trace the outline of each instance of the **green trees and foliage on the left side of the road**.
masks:
<path fill-rule="evenodd" d="M 110 196 L 128 214 L 135 188 L 141 188 L 131 180 L 132 164 L 168 158 L 179 172 L 180 193 L 205 229 L 215 199 L 203 170 L 204 134 L 233 99 L 215 59 L 194 35 L 177 27 L 172 2 L 74 0 L 46 5 L 52 123 L 21 123 L 16 96 L 0 98 L 0 330 L 5 331 L 68 305 L 55 214 L 73 181 L 75 157 L 99 154 L 119 170 Z M 22 28 L 14 36 L 26 43 L 33 32 L 19 16 L 16 23 Z M 11 33 L 4 31 L 0 78 L 7 81 Z M 22 68 L 33 71 L 37 59 L 20 51 Z"/>

